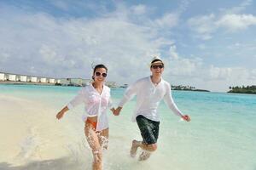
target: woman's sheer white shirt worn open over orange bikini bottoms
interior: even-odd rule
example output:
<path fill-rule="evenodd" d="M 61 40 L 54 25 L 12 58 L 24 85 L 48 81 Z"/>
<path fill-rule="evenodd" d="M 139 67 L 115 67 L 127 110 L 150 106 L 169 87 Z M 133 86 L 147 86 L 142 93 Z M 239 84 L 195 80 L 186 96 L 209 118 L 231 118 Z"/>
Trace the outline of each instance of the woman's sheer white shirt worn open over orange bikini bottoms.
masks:
<path fill-rule="evenodd" d="M 67 107 L 71 110 L 82 103 L 84 103 L 84 122 L 87 116 L 97 116 L 96 131 L 108 128 L 107 111 L 112 106 L 110 88 L 108 86 L 103 85 L 102 94 L 99 94 L 92 84 L 82 88 L 79 94 L 67 104 Z"/>

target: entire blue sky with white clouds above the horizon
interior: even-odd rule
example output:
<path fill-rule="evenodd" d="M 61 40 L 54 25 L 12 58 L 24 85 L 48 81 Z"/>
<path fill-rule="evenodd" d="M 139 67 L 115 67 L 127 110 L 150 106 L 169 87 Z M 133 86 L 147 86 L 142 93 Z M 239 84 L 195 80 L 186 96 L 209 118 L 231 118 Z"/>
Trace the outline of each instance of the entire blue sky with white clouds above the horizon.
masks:
<path fill-rule="evenodd" d="M 155 55 L 173 85 L 211 91 L 256 84 L 256 3 L 0 0 L 0 71 L 109 81 L 149 75 Z"/>

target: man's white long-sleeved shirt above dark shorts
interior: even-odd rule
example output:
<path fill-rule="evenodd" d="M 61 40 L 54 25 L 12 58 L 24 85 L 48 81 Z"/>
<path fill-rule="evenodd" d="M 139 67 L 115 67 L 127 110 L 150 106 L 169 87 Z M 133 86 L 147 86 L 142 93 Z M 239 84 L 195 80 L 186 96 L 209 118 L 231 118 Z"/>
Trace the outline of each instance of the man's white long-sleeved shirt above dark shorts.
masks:
<path fill-rule="evenodd" d="M 153 84 L 150 77 L 144 77 L 132 84 L 125 91 L 123 99 L 119 102 L 119 106 L 123 107 L 127 101 L 137 95 L 136 111 L 132 117 L 132 121 L 136 121 L 138 115 L 143 115 L 152 121 L 159 122 L 160 116 L 157 111 L 160 100 L 164 99 L 166 105 L 177 115 L 183 116 L 182 112 L 177 109 L 172 99 L 172 90 L 169 82 L 161 78 L 157 86 Z"/>

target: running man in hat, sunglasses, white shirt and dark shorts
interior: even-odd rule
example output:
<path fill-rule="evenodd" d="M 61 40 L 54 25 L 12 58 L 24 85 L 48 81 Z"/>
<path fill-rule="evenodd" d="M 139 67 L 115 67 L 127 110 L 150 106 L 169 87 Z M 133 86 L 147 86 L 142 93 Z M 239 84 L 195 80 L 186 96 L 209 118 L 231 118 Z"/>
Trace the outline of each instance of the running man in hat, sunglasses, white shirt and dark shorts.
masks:
<path fill-rule="evenodd" d="M 169 82 L 162 77 L 164 71 L 164 62 L 160 58 L 154 58 L 150 64 L 150 77 L 144 77 L 127 88 L 123 99 L 119 102 L 119 107 L 114 111 L 114 115 L 118 116 L 127 101 L 137 95 L 137 106 L 133 122 L 141 131 L 143 141 L 133 140 L 131 144 L 131 157 L 137 154 L 137 148 L 140 147 L 144 151 L 139 156 L 139 161 L 147 160 L 151 152 L 157 149 L 157 139 L 159 134 L 160 116 L 157 111 L 160 100 L 164 99 L 166 105 L 183 120 L 189 122 L 189 116 L 183 116 L 182 112 L 177 109 L 173 99 Z"/>

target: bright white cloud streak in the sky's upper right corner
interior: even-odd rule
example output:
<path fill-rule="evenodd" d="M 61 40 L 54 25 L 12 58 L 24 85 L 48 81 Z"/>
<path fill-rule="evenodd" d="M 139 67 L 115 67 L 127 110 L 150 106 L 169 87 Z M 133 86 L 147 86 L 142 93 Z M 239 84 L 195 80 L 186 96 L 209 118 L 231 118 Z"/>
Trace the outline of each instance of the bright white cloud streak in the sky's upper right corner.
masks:
<path fill-rule="evenodd" d="M 249 26 L 256 25 L 256 16 L 242 14 L 242 11 L 252 3 L 252 0 L 245 0 L 236 7 L 222 9 L 216 14 L 192 17 L 188 20 L 189 27 L 195 31 L 195 37 L 202 40 L 212 39 L 212 34 L 220 31 L 221 28 L 227 29 L 226 33 L 246 30 Z"/>

